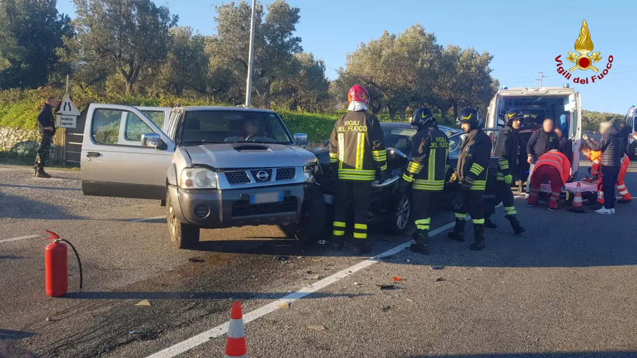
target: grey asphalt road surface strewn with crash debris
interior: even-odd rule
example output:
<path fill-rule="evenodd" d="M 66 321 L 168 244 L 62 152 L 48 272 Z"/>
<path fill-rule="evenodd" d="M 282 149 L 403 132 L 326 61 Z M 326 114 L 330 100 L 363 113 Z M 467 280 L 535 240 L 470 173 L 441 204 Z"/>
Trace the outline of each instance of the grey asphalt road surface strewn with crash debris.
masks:
<path fill-rule="evenodd" d="M 205 230 L 178 250 L 157 201 L 84 197 L 78 171 L 51 173 L 0 166 L 0 357 L 222 357 L 233 301 L 253 358 L 637 357 L 636 203 L 603 216 L 520 199 L 522 236 L 499 208 L 482 252 L 436 230 L 431 255 L 365 261 L 266 226 Z M 436 213 L 432 227 L 452 221 Z M 44 229 L 80 252 L 81 291 L 69 255 L 69 294 L 46 296 Z M 409 240 L 381 232 L 375 255 Z M 270 309 L 282 297 L 289 308 Z"/>

